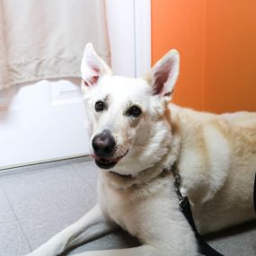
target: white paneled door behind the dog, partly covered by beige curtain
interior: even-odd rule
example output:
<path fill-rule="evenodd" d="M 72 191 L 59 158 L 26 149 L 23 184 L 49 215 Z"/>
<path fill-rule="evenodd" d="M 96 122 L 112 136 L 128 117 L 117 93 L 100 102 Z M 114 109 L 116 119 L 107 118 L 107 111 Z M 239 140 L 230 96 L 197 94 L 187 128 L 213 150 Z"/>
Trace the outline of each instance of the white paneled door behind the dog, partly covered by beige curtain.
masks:
<path fill-rule="evenodd" d="M 106 3 L 114 73 L 140 75 L 150 68 L 150 0 Z M 0 170 L 88 153 L 79 78 L 0 92 Z"/>

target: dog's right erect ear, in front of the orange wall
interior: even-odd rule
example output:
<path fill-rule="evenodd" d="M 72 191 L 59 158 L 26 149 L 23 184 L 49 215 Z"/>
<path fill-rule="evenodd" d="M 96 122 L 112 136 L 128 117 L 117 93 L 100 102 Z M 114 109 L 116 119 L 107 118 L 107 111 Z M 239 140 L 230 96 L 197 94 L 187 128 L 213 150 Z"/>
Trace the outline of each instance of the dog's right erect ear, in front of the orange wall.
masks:
<path fill-rule="evenodd" d="M 176 49 L 172 49 L 152 68 L 153 93 L 162 96 L 172 94 L 179 70 L 180 55 Z"/>

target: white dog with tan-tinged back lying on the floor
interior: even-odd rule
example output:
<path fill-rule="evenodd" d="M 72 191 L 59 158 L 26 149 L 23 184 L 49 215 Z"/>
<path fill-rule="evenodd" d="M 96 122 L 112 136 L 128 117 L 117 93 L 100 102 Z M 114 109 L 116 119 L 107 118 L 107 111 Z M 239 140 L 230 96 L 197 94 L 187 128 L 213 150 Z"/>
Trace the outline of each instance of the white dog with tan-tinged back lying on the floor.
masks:
<path fill-rule="evenodd" d="M 29 255 L 59 255 L 118 226 L 142 245 L 78 255 L 199 255 L 172 172 L 163 175 L 173 164 L 200 233 L 255 217 L 256 113 L 215 115 L 171 104 L 176 50 L 135 79 L 112 75 L 88 44 L 81 69 L 92 154 L 102 169 L 99 204 Z"/>

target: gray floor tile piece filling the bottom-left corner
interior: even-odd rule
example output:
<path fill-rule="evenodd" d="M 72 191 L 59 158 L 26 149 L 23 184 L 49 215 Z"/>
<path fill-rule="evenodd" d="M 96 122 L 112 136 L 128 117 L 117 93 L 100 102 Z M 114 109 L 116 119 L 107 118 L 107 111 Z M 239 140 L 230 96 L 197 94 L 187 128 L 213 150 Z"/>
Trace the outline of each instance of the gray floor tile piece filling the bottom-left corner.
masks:
<path fill-rule="evenodd" d="M 0 224 L 0 256 L 21 256 L 31 252 L 17 221 Z"/>

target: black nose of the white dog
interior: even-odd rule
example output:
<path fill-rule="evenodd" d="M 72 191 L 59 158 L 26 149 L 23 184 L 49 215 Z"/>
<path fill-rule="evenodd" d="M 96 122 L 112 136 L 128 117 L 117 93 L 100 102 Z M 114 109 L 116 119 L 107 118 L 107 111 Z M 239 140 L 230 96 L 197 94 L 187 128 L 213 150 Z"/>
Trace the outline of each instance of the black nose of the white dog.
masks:
<path fill-rule="evenodd" d="M 116 142 L 110 130 L 104 129 L 102 133 L 93 137 L 92 142 L 94 153 L 100 157 L 109 157 L 113 154 Z"/>

